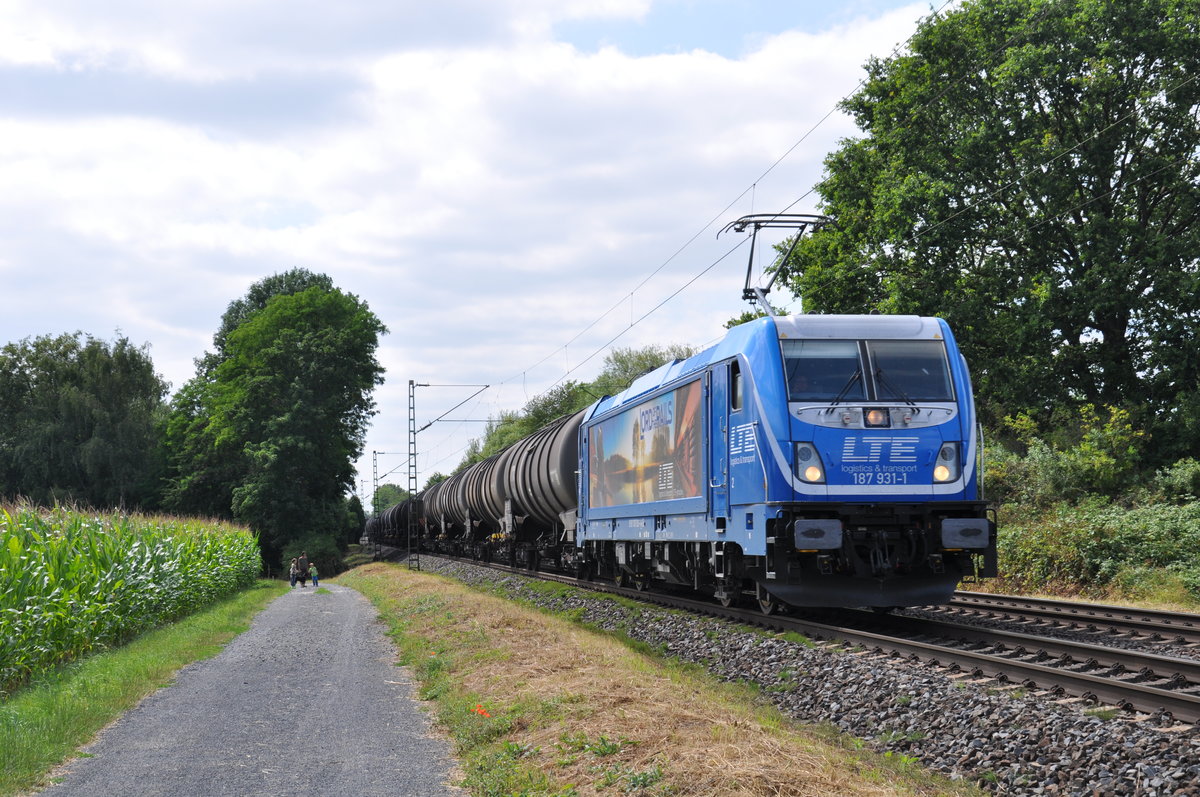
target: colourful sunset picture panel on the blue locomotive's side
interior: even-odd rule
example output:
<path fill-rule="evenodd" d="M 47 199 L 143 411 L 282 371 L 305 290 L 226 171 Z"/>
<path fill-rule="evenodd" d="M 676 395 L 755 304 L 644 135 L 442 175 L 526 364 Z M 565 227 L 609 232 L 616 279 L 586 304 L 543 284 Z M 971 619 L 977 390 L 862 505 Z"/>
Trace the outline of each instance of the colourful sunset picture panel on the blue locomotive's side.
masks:
<path fill-rule="evenodd" d="M 695 498 L 704 485 L 698 380 L 588 430 L 588 505 Z"/>

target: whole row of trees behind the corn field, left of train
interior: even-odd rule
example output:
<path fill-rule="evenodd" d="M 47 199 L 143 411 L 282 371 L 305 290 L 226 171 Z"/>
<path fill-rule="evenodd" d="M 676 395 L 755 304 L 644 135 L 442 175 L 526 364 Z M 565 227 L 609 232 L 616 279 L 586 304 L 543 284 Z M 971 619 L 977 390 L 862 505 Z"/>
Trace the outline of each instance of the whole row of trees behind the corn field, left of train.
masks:
<path fill-rule="evenodd" d="M 8 343 L 0 498 L 236 520 L 266 562 L 306 547 L 329 568 L 362 528 L 352 463 L 385 331 L 366 302 L 295 269 L 229 305 L 169 402 L 149 349 L 125 337 Z"/>

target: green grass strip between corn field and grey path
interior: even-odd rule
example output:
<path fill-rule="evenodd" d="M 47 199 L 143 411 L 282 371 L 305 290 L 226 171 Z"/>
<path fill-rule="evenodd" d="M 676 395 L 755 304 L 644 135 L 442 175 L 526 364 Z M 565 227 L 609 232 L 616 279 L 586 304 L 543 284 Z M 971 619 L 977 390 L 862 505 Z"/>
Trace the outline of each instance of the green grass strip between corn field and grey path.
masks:
<path fill-rule="evenodd" d="M 0 797 L 47 773 L 182 666 L 221 652 L 287 582 L 259 581 L 212 607 L 37 678 L 0 703 Z"/>

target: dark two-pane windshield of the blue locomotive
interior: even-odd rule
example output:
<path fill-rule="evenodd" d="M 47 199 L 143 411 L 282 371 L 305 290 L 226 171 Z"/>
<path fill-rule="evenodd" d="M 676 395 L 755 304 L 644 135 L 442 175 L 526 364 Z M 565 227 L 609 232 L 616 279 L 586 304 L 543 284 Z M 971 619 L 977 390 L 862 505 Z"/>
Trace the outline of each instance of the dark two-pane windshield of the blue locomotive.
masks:
<path fill-rule="evenodd" d="M 780 342 L 790 401 L 954 400 L 942 341 Z"/>

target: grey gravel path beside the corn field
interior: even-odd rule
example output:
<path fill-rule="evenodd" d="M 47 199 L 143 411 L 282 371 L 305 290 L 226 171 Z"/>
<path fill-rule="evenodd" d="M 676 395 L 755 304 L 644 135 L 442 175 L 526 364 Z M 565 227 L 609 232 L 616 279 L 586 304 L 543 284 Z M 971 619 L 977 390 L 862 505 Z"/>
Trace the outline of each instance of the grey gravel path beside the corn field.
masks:
<path fill-rule="evenodd" d="M 462 795 L 448 785 L 449 743 L 431 735 L 376 617 L 347 587 L 295 587 L 42 793 Z"/>

